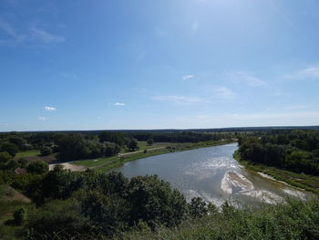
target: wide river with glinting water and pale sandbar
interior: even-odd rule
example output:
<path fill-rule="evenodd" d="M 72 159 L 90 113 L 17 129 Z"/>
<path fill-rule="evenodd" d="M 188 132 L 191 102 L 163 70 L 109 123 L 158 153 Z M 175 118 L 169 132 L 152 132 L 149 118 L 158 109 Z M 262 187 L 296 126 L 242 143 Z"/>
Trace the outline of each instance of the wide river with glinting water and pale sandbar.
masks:
<path fill-rule="evenodd" d="M 244 169 L 232 158 L 237 143 L 172 152 L 127 162 L 116 172 L 126 177 L 157 174 L 184 193 L 188 201 L 200 196 L 221 205 L 235 203 L 278 203 L 287 195 L 304 198 L 303 191 L 262 174 Z"/>

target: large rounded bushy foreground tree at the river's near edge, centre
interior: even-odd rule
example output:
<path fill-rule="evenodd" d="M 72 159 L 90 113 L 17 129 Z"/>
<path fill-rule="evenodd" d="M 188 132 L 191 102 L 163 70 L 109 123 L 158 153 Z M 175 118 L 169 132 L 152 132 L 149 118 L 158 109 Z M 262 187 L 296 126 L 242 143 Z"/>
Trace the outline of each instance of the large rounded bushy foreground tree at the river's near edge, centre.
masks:
<path fill-rule="evenodd" d="M 157 224 L 172 226 L 179 224 L 187 212 L 186 199 L 170 183 L 156 175 L 131 178 L 128 186 L 130 224 L 140 220 L 154 227 Z"/>

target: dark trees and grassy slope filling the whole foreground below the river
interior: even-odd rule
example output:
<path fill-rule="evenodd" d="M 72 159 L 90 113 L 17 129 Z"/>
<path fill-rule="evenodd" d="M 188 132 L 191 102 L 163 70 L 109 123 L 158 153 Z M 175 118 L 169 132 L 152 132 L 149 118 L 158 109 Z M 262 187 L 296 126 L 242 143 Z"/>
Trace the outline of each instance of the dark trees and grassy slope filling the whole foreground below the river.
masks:
<path fill-rule="evenodd" d="M 318 239 L 319 201 L 288 199 L 221 209 L 185 197 L 156 176 L 51 172 L 0 185 L 1 239 Z M 5 194 L 7 184 L 31 198 Z M 26 198 L 26 197 L 24 197 Z"/>

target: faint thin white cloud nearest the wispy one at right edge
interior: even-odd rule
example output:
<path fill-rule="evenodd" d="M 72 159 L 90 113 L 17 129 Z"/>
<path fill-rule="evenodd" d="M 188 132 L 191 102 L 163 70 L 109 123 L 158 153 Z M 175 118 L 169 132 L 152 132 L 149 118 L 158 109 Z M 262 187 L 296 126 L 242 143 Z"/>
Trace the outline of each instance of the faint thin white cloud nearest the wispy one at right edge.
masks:
<path fill-rule="evenodd" d="M 262 79 L 257 78 L 252 73 L 246 71 L 235 71 L 227 74 L 227 76 L 235 83 L 243 83 L 251 87 L 262 87 L 267 84 L 265 81 L 262 81 Z"/>

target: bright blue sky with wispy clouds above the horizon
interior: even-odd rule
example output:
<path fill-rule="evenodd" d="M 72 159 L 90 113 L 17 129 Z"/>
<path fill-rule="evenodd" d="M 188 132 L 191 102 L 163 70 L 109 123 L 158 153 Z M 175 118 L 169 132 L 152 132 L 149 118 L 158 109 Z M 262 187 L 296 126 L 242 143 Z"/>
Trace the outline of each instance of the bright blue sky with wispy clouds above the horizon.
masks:
<path fill-rule="evenodd" d="M 0 130 L 319 124 L 317 0 L 1 0 Z"/>

